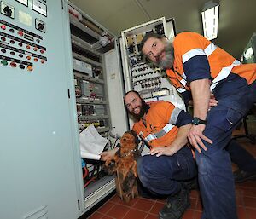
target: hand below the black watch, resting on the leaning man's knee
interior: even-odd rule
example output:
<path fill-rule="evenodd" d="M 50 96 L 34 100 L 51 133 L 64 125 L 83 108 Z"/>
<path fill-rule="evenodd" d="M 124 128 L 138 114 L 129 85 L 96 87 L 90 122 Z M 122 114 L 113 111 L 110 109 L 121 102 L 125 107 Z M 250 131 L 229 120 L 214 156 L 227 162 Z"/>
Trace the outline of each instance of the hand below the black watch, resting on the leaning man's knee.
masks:
<path fill-rule="evenodd" d="M 205 124 L 198 124 L 198 125 L 192 125 L 191 129 L 189 130 L 189 135 L 188 135 L 189 142 L 193 147 L 195 147 L 195 149 L 199 153 L 201 153 L 200 147 L 202 147 L 205 151 L 207 151 L 207 147 L 204 145 L 201 139 L 212 144 L 212 140 L 202 134 L 205 128 L 206 128 Z"/>

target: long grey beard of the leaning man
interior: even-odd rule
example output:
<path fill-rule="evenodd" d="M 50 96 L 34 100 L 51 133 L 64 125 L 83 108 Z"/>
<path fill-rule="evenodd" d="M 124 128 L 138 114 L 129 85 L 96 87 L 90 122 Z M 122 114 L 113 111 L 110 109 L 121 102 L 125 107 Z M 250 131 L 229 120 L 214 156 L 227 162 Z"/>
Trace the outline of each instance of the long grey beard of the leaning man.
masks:
<path fill-rule="evenodd" d="M 156 65 L 162 69 L 170 69 L 172 68 L 174 61 L 174 49 L 172 43 L 167 43 L 164 51 L 166 52 L 165 57 L 158 61 Z"/>

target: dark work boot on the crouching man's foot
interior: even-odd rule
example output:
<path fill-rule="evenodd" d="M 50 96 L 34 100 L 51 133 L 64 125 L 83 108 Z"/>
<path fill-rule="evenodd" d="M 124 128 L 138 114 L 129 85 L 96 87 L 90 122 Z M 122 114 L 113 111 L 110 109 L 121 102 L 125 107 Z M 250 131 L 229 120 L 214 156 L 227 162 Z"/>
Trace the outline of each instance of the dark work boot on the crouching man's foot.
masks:
<path fill-rule="evenodd" d="M 159 219 L 180 219 L 189 206 L 189 191 L 182 188 L 179 193 L 167 198 L 166 205 L 159 212 Z"/>

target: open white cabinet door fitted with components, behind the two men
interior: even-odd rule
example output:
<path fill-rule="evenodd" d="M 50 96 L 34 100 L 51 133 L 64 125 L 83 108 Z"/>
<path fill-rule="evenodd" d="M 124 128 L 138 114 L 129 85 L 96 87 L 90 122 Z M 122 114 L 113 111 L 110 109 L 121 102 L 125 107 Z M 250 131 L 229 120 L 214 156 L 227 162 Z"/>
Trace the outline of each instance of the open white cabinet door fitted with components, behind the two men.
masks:
<path fill-rule="evenodd" d="M 121 32 L 119 43 L 125 92 L 134 89 L 146 102 L 171 101 L 176 107 L 185 109 L 176 89 L 166 78 L 166 72 L 147 61 L 141 52 L 141 41 L 147 32 L 164 34 L 172 41 L 176 35 L 174 19 L 162 17 Z"/>

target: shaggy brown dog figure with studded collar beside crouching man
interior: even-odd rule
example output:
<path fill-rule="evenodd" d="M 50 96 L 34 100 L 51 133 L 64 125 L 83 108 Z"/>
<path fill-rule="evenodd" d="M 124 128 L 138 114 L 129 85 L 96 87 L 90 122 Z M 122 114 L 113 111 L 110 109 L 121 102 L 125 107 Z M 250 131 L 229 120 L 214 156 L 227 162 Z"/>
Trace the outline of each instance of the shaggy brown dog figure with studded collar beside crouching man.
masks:
<path fill-rule="evenodd" d="M 113 158 L 109 158 L 103 169 L 116 174 L 116 190 L 125 202 L 137 196 L 137 149 L 138 138 L 134 131 L 126 131 L 121 137 L 120 147 Z"/>

